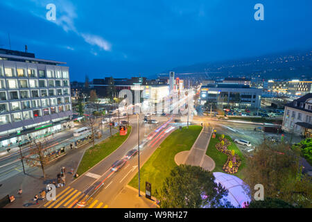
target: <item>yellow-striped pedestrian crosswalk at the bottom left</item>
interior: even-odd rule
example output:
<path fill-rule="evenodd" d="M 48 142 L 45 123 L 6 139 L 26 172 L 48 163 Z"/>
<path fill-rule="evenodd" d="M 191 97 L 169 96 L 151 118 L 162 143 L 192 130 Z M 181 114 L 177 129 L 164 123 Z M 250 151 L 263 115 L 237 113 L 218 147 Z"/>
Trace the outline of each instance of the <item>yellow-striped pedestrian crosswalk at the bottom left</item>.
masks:
<path fill-rule="evenodd" d="M 83 205 L 81 203 L 84 203 Z M 73 187 L 67 187 L 55 197 L 55 200 L 49 200 L 44 203 L 45 208 L 107 208 L 103 202 L 89 195 L 78 191 Z"/>

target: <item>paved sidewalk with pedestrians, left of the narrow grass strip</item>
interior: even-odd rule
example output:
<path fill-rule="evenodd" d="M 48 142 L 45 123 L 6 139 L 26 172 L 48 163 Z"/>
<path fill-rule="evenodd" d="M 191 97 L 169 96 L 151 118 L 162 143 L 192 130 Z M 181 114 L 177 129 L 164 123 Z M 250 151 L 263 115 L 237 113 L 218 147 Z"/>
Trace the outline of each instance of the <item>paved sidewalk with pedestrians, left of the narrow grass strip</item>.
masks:
<path fill-rule="evenodd" d="M 114 130 L 113 133 L 116 133 L 117 130 Z M 101 139 L 96 139 L 95 143 L 103 141 L 107 137 L 110 136 L 110 130 L 105 130 L 103 133 L 103 137 Z M 15 201 L 6 205 L 6 208 L 21 208 L 21 207 L 31 207 L 36 208 L 40 207 L 43 203 L 42 200 L 39 201 L 39 205 L 34 205 L 35 201 L 33 201 L 33 197 L 37 194 L 40 196 L 40 192 L 46 188 L 46 185 L 51 183 L 56 179 L 58 173 L 60 173 L 60 168 L 66 168 L 66 184 L 71 183 L 74 178 L 71 173 L 71 169 L 73 169 L 73 173 L 76 173 L 76 169 L 78 164 L 80 163 L 85 150 L 92 146 L 92 143 L 86 144 L 82 148 L 73 149 L 72 151 L 67 152 L 64 157 L 60 157 L 60 159 L 55 160 L 53 164 L 47 166 L 45 168 L 46 178 L 42 178 L 42 169 L 33 168 L 28 169 L 26 175 L 23 173 L 19 173 L 19 175 L 9 178 L 8 180 L 4 180 L 3 186 L 0 189 L 1 197 L 6 196 L 7 194 L 14 195 Z M 65 186 L 66 188 L 66 186 Z M 18 189 L 23 190 L 23 194 L 17 194 Z M 57 188 L 57 193 L 60 192 L 62 188 Z"/>

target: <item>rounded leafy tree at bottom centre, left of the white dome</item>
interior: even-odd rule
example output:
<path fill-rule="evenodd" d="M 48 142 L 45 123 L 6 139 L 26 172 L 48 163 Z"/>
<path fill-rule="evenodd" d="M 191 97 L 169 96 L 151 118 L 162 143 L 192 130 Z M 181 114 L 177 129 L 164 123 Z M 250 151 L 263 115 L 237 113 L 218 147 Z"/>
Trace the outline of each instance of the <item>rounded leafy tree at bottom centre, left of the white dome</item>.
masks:
<path fill-rule="evenodd" d="M 214 175 L 201 167 L 180 165 L 175 167 L 160 192 L 163 208 L 231 207 L 222 198 L 228 191 L 214 182 Z"/>

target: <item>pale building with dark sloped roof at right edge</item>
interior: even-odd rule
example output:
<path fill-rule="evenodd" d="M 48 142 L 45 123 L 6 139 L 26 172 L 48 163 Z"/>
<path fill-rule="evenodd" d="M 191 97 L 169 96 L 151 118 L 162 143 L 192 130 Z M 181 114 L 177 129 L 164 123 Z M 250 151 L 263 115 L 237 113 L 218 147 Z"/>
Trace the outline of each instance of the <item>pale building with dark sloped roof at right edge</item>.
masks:
<path fill-rule="evenodd" d="M 282 129 L 288 133 L 312 137 L 312 93 L 285 105 Z"/>

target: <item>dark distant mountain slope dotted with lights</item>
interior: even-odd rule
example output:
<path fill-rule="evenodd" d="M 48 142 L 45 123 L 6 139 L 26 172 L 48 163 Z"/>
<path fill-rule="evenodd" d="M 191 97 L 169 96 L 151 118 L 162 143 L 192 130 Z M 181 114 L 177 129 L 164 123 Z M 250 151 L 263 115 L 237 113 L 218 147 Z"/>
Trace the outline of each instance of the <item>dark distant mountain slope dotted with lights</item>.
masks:
<path fill-rule="evenodd" d="M 261 78 L 312 78 L 312 51 L 275 53 L 257 58 L 244 58 L 223 62 L 206 62 L 171 70 L 177 74 L 206 74 L 207 77 L 255 77 Z"/>

